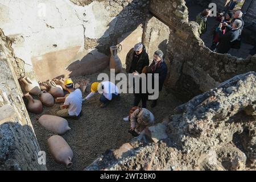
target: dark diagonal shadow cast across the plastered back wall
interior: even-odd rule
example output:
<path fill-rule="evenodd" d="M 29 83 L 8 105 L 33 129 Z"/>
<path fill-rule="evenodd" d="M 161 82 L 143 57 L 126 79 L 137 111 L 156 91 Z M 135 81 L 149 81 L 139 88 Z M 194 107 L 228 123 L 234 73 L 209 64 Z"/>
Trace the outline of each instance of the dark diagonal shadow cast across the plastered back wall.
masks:
<path fill-rule="evenodd" d="M 87 55 L 85 55 L 81 60 L 77 60 L 68 65 L 67 70 L 71 72 L 69 77 L 92 74 L 108 67 L 110 59 L 109 47 L 121 43 L 124 39 L 131 35 L 131 33 L 136 30 L 139 25 L 143 24 L 144 26 L 146 16 L 142 16 L 142 12 L 145 11 L 143 14 L 146 15 L 148 11 L 144 6 L 144 2 L 147 1 L 139 2 L 138 0 L 134 0 L 129 3 L 129 5 L 127 5 L 117 15 L 117 17 L 108 24 L 108 26 L 114 24 L 113 31 L 113 27 L 109 27 L 103 35 L 108 34 L 108 32 L 111 31 L 113 33 L 110 33 L 108 37 L 102 36 L 97 40 L 97 42 L 94 42 L 94 48 L 96 49 L 93 49 L 93 51 L 87 53 Z M 130 12 L 134 9 L 134 6 L 137 6 L 138 9 L 141 9 L 141 11 L 132 11 L 133 13 L 131 14 Z M 89 41 L 93 40 L 85 38 L 85 49 L 89 49 L 89 47 L 86 47 Z"/>

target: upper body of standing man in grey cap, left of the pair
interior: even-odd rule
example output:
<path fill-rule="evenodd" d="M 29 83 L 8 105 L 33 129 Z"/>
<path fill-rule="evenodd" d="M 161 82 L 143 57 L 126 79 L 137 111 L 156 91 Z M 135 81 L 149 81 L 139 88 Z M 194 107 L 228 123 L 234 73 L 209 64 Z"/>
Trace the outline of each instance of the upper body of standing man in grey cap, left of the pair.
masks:
<path fill-rule="evenodd" d="M 127 73 L 142 73 L 142 69 L 149 65 L 148 54 L 142 43 L 138 43 L 131 48 L 126 56 L 126 72 Z"/>

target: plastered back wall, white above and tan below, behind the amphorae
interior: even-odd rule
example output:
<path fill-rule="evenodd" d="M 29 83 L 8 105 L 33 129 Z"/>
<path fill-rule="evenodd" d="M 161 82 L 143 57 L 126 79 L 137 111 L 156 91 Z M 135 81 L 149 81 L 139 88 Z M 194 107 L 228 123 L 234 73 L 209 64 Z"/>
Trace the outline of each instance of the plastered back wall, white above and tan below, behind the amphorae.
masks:
<path fill-rule="evenodd" d="M 0 28 L 32 79 L 86 75 L 108 67 L 109 46 L 125 41 L 123 58 L 142 41 L 147 2 L 0 0 Z"/>

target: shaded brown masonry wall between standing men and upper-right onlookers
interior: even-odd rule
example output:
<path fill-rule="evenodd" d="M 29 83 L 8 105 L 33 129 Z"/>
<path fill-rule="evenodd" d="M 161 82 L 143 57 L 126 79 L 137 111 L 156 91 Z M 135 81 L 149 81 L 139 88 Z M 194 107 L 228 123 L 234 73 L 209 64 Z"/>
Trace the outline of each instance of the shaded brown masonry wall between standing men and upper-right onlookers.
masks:
<path fill-rule="evenodd" d="M 151 1 L 150 11 L 170 27 L 166 62 L 167 89 L 187 101 L 237 74 L 256 71 L 256 57 L 238 59 L 210 51 L 199 38 L 198 24 L 188 22 L 184 1 Z"/>

